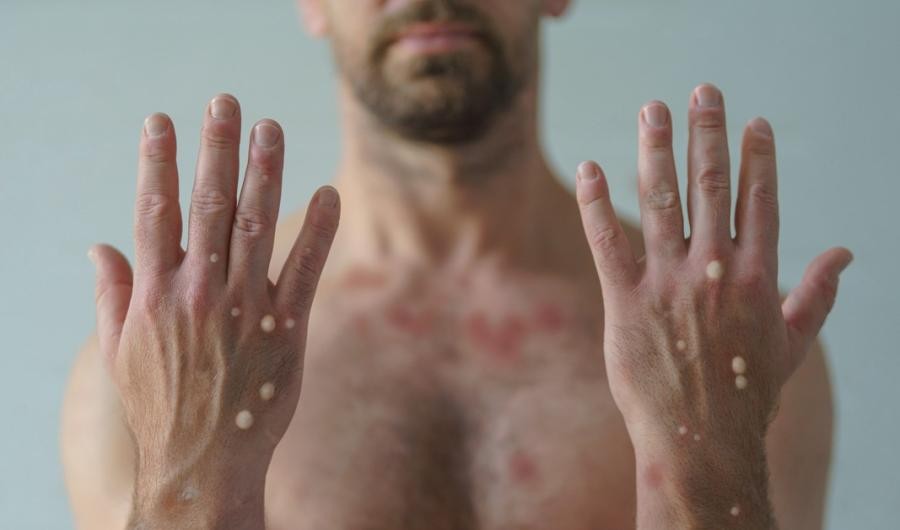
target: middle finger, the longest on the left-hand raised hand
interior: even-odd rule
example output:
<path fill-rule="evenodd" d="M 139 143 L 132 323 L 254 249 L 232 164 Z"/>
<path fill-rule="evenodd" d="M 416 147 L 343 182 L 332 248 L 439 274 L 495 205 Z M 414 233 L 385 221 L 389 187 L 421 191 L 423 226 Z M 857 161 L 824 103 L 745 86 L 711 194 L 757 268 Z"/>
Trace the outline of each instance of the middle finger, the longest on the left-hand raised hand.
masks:
<path fill-rule="evenodd" d="M 191 193 L 187 260 L 200 281 L 225 281 L 240 142 L 240 105 L 233 96 L 218 95 L 207 106 Z"/>

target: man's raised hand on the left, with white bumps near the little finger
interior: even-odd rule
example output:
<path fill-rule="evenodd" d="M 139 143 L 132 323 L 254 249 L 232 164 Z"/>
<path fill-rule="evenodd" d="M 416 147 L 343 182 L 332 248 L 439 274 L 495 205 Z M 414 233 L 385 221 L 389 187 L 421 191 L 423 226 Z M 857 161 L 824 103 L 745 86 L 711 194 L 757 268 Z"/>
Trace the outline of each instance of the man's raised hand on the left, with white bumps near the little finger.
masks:
<path fill-rule="evenodd" d="M 135 204 L 135 270 L 107 245 L 97 267 L 100 349 L 137 448 L 132 525 L 262 527 L 265 475 L 300 395 L 310 305 L 337 230 L 318 190 L 277 284 L 267 271 L 284 141 L 256 124 L 237 200 L 240 108 L 215 97 L 203 126 L 188 248 L 180 245 L 175 130 L 147 118 Z"/>

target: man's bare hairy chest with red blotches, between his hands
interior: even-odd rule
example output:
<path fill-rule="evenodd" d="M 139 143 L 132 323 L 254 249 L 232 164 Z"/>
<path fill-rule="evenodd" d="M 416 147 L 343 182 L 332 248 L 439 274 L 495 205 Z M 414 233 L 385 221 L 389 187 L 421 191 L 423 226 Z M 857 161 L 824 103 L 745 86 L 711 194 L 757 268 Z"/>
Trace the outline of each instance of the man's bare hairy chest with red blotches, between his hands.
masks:
<path fill-rule="evenodd" d="M 599 323 L 565 296 L 516 296 L 314 314 L 267 480 L 271 527 L 630 528 L 631 447 Z"/>

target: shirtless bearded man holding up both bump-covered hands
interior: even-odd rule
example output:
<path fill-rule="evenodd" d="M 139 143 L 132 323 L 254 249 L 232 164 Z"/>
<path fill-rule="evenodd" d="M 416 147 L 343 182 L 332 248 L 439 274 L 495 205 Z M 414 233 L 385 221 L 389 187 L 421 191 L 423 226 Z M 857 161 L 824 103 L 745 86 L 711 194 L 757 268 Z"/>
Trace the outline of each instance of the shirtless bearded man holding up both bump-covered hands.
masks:
<path fill-rule="evenodd" d="M 638 117 L 641 230 L 594 163 L 576 200 L 537 126 L 540 23 L 567 4 L 301 0 L 333 43 L 344 150 L 277 231 L 277 123 L 238 194 L 240 108 L 211 101 L 185 250 L 174 125 L 147 119 L 134 274 L 92 248 L 97 334 L 64 405 L 80 528 L 822 527 L 815 336 L 851 255 L 782 304 L 771 129 L 744 132 L 732 237 L 711 85 L 689 239 L 660 102 Z"/>

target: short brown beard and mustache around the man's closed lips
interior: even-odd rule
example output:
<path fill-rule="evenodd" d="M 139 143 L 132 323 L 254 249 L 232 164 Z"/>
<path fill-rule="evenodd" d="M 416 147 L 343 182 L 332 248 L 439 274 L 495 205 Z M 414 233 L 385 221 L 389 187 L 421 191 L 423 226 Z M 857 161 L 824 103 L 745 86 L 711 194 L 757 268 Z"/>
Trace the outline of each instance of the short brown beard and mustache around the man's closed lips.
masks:
<path fill-rule="evenodd" d="M 466 24 L 476 43 L 392 61 L 396 35 L 425 22 Z M 475 8 L 458 0 L 433 0 L 382 21 L 362 59 L 352 60 L 341 39 L 335 39 L 335 53 L 355 97 L 384 127 L 414 141 L 462 144 L 481 138 L 526 84 L 526 68 L 512 64 L 498 35 Z M 530 40 L 524 42 L 535 40 L 526 37 Z M 516 48 L 514 57 L 528 57 L 525 46 Z"/>

